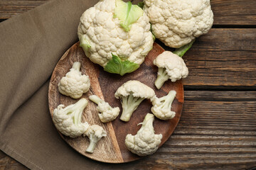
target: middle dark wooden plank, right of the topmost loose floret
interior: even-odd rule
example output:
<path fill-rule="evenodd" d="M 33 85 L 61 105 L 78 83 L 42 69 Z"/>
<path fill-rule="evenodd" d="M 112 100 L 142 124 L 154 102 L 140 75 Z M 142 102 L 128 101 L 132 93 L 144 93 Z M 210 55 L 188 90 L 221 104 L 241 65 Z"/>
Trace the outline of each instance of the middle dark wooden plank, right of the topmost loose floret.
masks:
<path fill-rule="evenodd" d="M 183 56 L 189 69 L 188 77 L 183 79 L 185 89 L 255 89 L 255 33 L 255 28 L 213 28 L 198 38 Z"/>

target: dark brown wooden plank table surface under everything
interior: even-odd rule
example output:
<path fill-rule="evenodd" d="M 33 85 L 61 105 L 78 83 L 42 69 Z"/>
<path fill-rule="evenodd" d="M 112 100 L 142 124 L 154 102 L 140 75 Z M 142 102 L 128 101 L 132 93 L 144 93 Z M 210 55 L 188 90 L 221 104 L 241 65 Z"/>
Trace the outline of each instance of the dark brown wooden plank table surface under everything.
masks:
<path fill-rule="evenodd" d="M 0 21 L 46 2 L 0 0 Z M 256 1 L 211 0 L 211 5 L 213 28 L 183 57 L 189 75 L 174 134 L 155 154 L 117 169 L 256 167 Z M 4 169 L 26 167 L 0 151 Z"/>

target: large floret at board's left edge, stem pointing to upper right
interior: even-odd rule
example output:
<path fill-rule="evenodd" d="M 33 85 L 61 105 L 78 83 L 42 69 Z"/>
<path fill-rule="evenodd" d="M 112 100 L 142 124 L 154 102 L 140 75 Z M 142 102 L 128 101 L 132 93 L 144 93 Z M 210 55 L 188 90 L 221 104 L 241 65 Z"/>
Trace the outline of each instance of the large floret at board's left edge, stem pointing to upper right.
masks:
<path fill-rule="evenodd" d="M 81 98 L 77 103 L 63 108 L 60 104 L 53 111 L 53 123 L 55 127 L 63 135 L 69 137 L 78 137 L 85 133 L 89 124 L 87 122 L 82 123 L 82 112 L 87 106 L 88 101 L 85 98 Z"/>

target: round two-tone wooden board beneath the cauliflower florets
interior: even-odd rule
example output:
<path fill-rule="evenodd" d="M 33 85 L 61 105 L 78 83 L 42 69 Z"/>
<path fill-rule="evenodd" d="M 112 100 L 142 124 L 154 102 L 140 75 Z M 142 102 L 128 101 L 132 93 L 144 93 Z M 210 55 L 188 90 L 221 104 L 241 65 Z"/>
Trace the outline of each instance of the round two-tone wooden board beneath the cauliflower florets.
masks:
<path fill-rule="evenodd" d="M 151 102 L 148 100 L 142 101 L 137 110 L 132 114 L 129 122 L 125 123 L 122 120 L 119 120 L 119 117 L 122 113 L 121 103 L 119 99 L 114 98 L 114 93 L 117 91 L 119 86 L 124 84 L 126 81 L 135 79 L 154 89 L 156 96 L 158 97 L 168 94 L 170 90 L 175 90 L 177 92 L 176 98 L 171 108 L 172 111 L 176 112 L 176 116 L 173 119 L 166 121 L 159 120 L 158 118 L 155 118 L 154 120 L 154 130 L 156 134 L 161 133 L 163 135 L 161 141 L 161 145 L 163 145 L 164 142 L 166 142 L 166 140 L 168 140 L 168 138 L 171 136 L 172 132 L 174 132 L 174 129 L 178 124 L 178 120 L 181 117 L 181 110 L 183 106 L 183 85 L 181 81 L 172 83 L 169 80 L 166 81 L 160 90 L 157 90 L 154 86 L 157 67 L 154 66 L 153 60 L 162 52 L 164 52 L 164 49 L 160 45 L 156 44 L 156 42 L 154 42 L 153 50 L 149 52 L 145 62 L 139 67 L 139 69 L 121 77 L 118 74 L 110 74 L 105 72 L 102 67 L 90 62 L 90 60 L 85 56 L 82 48 L 79 46 L 79 42 L 70 47 L 70 49 L 65 52 L 63 57 L 60 58 L 60 61 L 53 70 L 53 74 L 50 79 L 48 91 L 50 115 L 53 116 L 53 110 L 57 108 L 58 105 L 63 104 L 64 106 L 68 106 L 79 100 L 79 98 L 73 99 L 68 96 L 63 96 L 58 91 L 58 82 L 62 77 L 65 76 L 67 72 L 69 72 L 73 62 L 81 62 L 82 74 L 87 74 L 90 77 L 90 90 L 86 94 L 83 94 L 82 98 L 88 99 L 90 95 L 95 94 L 110 103 L 110 106 L 118 106 L 121 111 L 119 116 L 114 121 L 110 123 L 101 123 L 97 115 L 97 105 L 92 103 L 92 101 L 88 102 L 88 105 L 82 115 L 82 121 L 87 121 L 90 125 L 101 125 L 107 131 L 107 137 L 102 137 L 102 140 L 97 143 L 95 152 L 92 154 L 85 152 L 85 149 L 89 145 L 89 140 L 87 137 L 81 136 L 71 138 L 60 134 L 61 137 L 63 137 L 63 139 L 68 142 L 68 144 L 73 147 L 73 149 L 80 152 L 80 154 L 100 162 L 122 163 L 132 162 L 141 158 L 136 154 L 129 152 L 129 150 L 124 145 L 124 140 L 127 134 L 130 133 L 135 135 L 137 133 L 141 127 L 141 125 L 138 124 L 143 121 L 146 113 L 151 113 Z"/>

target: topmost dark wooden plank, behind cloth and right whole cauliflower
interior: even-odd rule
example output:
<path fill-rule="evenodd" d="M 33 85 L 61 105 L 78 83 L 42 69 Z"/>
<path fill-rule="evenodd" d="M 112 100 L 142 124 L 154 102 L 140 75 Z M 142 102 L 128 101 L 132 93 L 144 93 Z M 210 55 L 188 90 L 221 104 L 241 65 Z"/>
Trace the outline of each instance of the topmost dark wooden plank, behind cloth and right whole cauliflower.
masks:
<path fill-rule="evenodd" d="M 52 0 L 0 0 L 0 19 L 11 18 Z M 137 3 L 135 0 L 134 3 Z M 255 0 L 212 0 L 214 25 L 256 25 Z"/>

